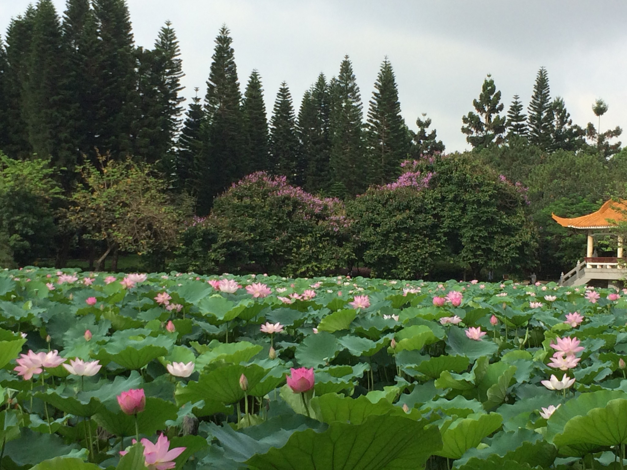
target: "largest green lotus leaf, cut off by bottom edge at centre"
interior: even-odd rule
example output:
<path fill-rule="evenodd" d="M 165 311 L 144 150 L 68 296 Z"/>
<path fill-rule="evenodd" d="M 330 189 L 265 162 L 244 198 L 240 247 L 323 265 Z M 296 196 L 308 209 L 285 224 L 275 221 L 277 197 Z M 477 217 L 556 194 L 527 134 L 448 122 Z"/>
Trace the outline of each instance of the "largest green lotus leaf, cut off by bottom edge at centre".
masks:
<path fill-rule="evenodd" d="M 425 421 L 371 415 L 362 424 L 332 422 L 324 432 L 294 432 L 285 446 L 271 447 L 246 464 L 276 470 L 415 470 L 440 446 L 438 429 Z"/>

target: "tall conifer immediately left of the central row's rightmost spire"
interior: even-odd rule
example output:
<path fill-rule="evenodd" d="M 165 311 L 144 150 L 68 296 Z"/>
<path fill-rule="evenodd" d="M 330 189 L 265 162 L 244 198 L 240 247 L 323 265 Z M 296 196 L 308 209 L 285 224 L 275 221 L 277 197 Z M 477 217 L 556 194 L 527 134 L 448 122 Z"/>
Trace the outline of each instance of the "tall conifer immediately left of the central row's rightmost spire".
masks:
<path fill-rule="evenodd" d="M 332 80 L 329 166 L 334 196 L 360 194 L 367 187 L 367 159 L 362 149 L 362 103 L 349 56 Z"/>

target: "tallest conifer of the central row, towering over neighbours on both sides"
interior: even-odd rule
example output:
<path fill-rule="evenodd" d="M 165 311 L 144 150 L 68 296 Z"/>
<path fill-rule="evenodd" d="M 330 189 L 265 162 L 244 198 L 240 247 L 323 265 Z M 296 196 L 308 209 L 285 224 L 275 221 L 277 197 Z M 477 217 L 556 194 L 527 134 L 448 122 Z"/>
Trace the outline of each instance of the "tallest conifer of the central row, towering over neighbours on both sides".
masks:
<path fill-rule="evenodd" d="M 216 194 L 248 172 L 248 162 L 243 159 L 245 140 L 240 83 L 231 47 L 233 39 L 229 34 L 226 26 L 222 26 L 216 38 L 204 98 L 202 171 L 205 183 L 198 195 L 199 211 L 203 213 L 209 211 Z"/>

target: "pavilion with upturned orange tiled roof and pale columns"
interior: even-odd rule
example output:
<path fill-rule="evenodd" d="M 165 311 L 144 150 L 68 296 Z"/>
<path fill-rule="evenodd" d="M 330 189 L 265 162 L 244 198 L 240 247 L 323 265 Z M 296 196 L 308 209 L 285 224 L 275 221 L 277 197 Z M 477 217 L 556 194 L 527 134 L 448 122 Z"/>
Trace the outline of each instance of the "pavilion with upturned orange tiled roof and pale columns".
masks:
<path fill-rule="evenodd" d="M 583 263 L 577 261 L 577 266 L 568 273 L 562 273 L 559 283 L 562 286 L 584 285 L 596 279 L 607 280 L 608 286 L 619 279 L 627 277 L 627 267 L 623 258 L 623 236 L 617 233 L 618 222 L 627 221 L 627 201 L 604 202 L 601 209 L 587 216 L 558 217 L 552 214 L 553 219 L 562 227 L 587 232 L 586 257 Z M 594 254 L 594 239 L 603 236 L 616 236 L 618 247 L 616 257 L 598 257 Z"/>

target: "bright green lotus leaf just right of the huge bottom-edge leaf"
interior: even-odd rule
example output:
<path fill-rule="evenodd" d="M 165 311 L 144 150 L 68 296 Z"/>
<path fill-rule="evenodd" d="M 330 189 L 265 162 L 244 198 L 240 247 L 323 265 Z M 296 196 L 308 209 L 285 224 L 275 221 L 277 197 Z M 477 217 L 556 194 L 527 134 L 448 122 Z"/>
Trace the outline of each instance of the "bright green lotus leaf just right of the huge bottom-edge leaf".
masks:
<path fill-rule="evenodd" d="M 501 427 L 500 414 L 471 414 L 466 418 L 451 419 L 440 429 L 442 449 L 436 455 L 459 459 L 468 449 L 477 447 L 487 436 Z"/>

